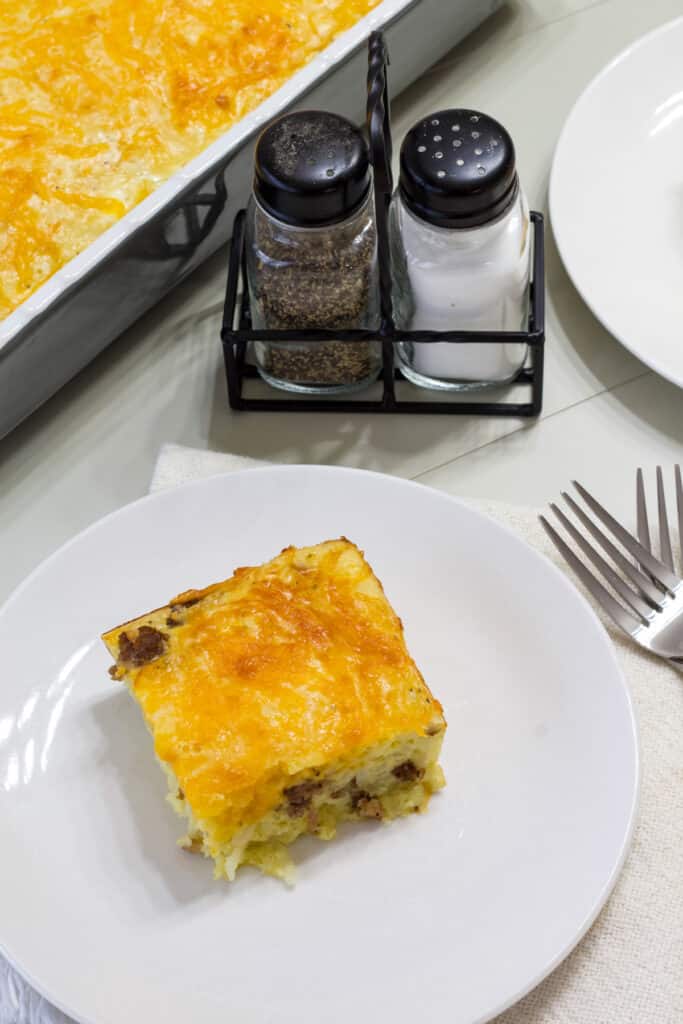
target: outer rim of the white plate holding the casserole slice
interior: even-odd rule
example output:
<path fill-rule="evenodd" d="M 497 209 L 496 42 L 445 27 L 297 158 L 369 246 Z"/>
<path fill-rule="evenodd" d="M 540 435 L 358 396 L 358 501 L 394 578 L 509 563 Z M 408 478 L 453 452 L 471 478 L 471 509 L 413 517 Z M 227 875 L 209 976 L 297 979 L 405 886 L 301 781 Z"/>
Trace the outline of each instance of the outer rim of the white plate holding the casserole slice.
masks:
<path fill-rule="evenodd" d="M 683 22 L 683 17 L 680 19 Z M 602 642 L 605 645 L 606 652 L 608 654 L 611 666 L 615 672 L 616 679 L 621 684 L 621 691 L 623 693 L 624 699 L 626 701 L 626 710 L 628 712 L 629 722 L 630 722 L 630 736 L 632 740 L 632 753 L 633 753 L 633 769 L 634 769 L 634 783 L 633 791 L 630 797 L 630 807 L 628 821 L 624 831 L 624 836 L 621 841 L 621 847 L 618 853 L 614 858 L 613 865 L 611 867 L 609 877 L 605 881 L 602 889 L 595 898 L 594 904 L 590 911 L 587 913 L 584 921 L 581 923 L 575 935 L 560 949 L 554 956 L 550 958 L 539 972 L 518 991 L 511 994 L 508 998 L 504 999 L 492 1011 L 486 1011 L 486 1013 L 477 1017 L 476 1020 L 472 1021 L 472 1024 L 487 1024 L 487 1022 L 493 1021 L 500 1014 L 504 1013 L 510 1007 L 515 1006 L 520 999 L 528 995 L 535 988 L 537 988 L 545 979 L 553 973 L 562 964 L 566 957 L 572 952 L 572 950 L 579 945 L 579 943 L 584 939 L 592 925 L 597 920 L 599 913 L 605 906 L 611 892 L 616 885 L 620 874 L 624 868 L 628 855 L 630 853 L 633 838 L 635 833 L 635 827 L 638 819 L 638 808 L 640 804 L 640 794 L 641 794 L 641 783 L 642 783 L 642 758 L 640 749 L 640 733 L 638 728 L 638 720 L 635 712 L 633 695 L 631 693 L 631 688 L 629 686 L 628 680 L 622 670 L 622 667 L 616 657 L 616 649 L 612 643 L 609 634 L 605 630 L 603 624 L 598 617 L 595 609 L 587 598 L 579 591 L 579 589 L 571 583 L 569 578 L 557 566 L 555 565 L 545 554 L 537 550 L 522 538 L 520 538 L 511 526 L 507 523 L 500 522 L 494 519 L 492 516 L 486 515 L 486 513 L 473 506 L 463 498 L 456 495 L 449 494 L 445 490 L 440 490 L 438 487 L 432 487 L 429 484 L 421 483 L 418 480 L 408 479 L 405 477 L 395 476 L 391 473 L 382 473 L 377 470 L 367 470 L 359 469 L 353 466 L 333 466 L 326 464 L 315 464 L 315 463 L 288 463 L 288 464 L 269 464 L 264 466 L 254 466 L 246 467 L 238 470 L 227 470 L 220 473 L 212 473 L 210 476 L 200 477 L 194 480 L 187 480 L 184 483 L 173 485 L 170 487 L 164 487 L 160 490 L 146 494 L 136 499 L 135 501 L 128 502 L 125 505 L 120 506 L 117 509 L 113 509 L 111 512 L 101 516 L 99 519 L 95 519 L 84 529 L 79 530 L 73 537 L 65 541 L 59 547 L 57 547 L 51 554 L 46 558 L 42 559 L 29 574 L 12 590 L 5 601 L 0 605 L 0 620 L 6 610 L 12 605 L 16 599 L 22 597 L 25 589 L 28 589 L 34 581 L 40 575 L 44 568 L 46 568 L 52 561 L 55 561 L 59 556 L 67 552 L 72 546 L 76 545 L 80 539 L 98 529 L 110 519 L 120 516 L 123 513 L 128 513 L 133 508 L 141 505 L 154 505 L 161 503 L 167 498 L 169 494 L 187 489 L 202 489 L 203 486 L 215 478 L 230 478 L 238 479 L 247 473 L 258 473 L 258 474 L 271 474 L 276 473 L 279 475 L 287 475 L 292 471 L 299 472 L 305 471 L 308 473 L 317 473 L 323 471 L 325 473 L 330 473 L 333 475 L 347 475 L 355 477 L 375 477 L 383 481 L 389 480 L 392 483 L 397 483 L 399 486 L 407 486 L 414 490 L 425 490 L 435 495 L 439 499 L 443 499 L 449 503 L 455 504 L 461 509 L 464 509 L 466 513 L 470 514 L 475 519 L 483 519 L 485 522 L 493 526 L 494 529 L 501 531 L 506 535 L 509 540 L 511 540 L 516 546 L 525 549 L 527 555 L 530 553 L 531 557 L 540 560 L 546 566 L 546 569 L 550 569 L 550 574 L 552 578 L 558 582 L 558 584 L 564 588 L 565 591 L 569 592 L 571 598 L 577 600 L 580 605 L 583 606 L 584 611 L 588 613 L 588 621 L 591 622 L 594 629 L 597 630 L 598 636 L 600 636 Z M 32 972 L 27 970 L 23 965 L 12 957 L 2 941 L 2 934 L 0 928 L 0 954 L 4 956 L 7 963 L 13 968 L 17 974 L 33 988 L 40 996 L 42 996 L 47 1002 L 52 1007 L 60 1011 L 68 1018 L 72 1019 L 76 1024 L 100 1024 L 99 1021 L 86 1017 L 85 1015 L 75 1011 L 73 1008 L 61 1002 L 58 998 L 55 998 L 44 986 L 37 981 Z"/>

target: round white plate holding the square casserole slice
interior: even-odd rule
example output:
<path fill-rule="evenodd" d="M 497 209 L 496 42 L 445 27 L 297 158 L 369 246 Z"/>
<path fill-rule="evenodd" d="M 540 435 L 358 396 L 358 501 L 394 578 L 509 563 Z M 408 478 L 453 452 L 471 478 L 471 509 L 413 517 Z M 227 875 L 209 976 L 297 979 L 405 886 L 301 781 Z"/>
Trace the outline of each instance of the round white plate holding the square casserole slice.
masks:
<path fill-rule="evenodd" d="M 442 700 L 425 815 L 295 847 L 294 890 L 214 882 L 98 634 L 288 544 L 359 544 Z M 638 755 L 611 644 L 572 586 L 454 499 L 281 467 L 155 495 L 0 612 L 0 947 L 87 1024 L 488 1020 L 570 950 L 629 844 Z"/>

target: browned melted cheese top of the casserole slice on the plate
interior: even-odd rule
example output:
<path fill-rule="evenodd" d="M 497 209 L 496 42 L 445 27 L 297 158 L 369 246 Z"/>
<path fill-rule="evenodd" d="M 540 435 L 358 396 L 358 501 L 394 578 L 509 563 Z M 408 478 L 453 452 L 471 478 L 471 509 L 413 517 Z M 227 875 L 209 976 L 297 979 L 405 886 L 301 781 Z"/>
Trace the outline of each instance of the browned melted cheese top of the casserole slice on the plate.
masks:
<path fill-rule="evenodd" d="M 152 638 L 138 667 L 136 636 Z M 103 639 L 193 814 L 228 830 L 275 807 L 293 776 L 443 728 L 400 621 L 345 540 L 288 548 Z"/>

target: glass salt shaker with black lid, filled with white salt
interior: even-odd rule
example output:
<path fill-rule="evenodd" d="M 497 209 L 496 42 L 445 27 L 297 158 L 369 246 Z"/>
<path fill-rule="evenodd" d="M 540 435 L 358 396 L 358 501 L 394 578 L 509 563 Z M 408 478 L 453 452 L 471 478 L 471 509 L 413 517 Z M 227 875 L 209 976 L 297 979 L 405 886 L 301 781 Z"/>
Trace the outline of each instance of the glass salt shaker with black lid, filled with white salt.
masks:
<path fill-rule="evenodd" d="M 530 224 L 510 135 L 478 111 L 439 111 L 400 151 L 389 217 L 397 327 L 521 331 L 528 319 Z M 401 373 L 422 387 L 473 390 L 511 381 L 520 342 L 399 342 Z"/>

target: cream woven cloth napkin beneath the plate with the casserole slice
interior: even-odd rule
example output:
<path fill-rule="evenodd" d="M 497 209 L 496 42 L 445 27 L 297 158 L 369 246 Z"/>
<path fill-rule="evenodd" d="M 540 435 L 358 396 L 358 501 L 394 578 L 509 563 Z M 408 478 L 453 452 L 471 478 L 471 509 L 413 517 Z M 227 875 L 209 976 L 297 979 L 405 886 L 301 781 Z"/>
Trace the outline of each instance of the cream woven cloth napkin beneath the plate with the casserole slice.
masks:
<path fill-rule="evenodd" d="M 263 463 L 167 444 L 150 489 L 258 465 Z M 473 504 L 565 568 L 537 510 Z M 683 676 L 605 625 L 631 687 L 640 729 L 642 783 L 633 848 L 585 939 L 497 1024 L 683 1022 Z M 0 1024 L 70 1022 L 0 957 Z"/>

